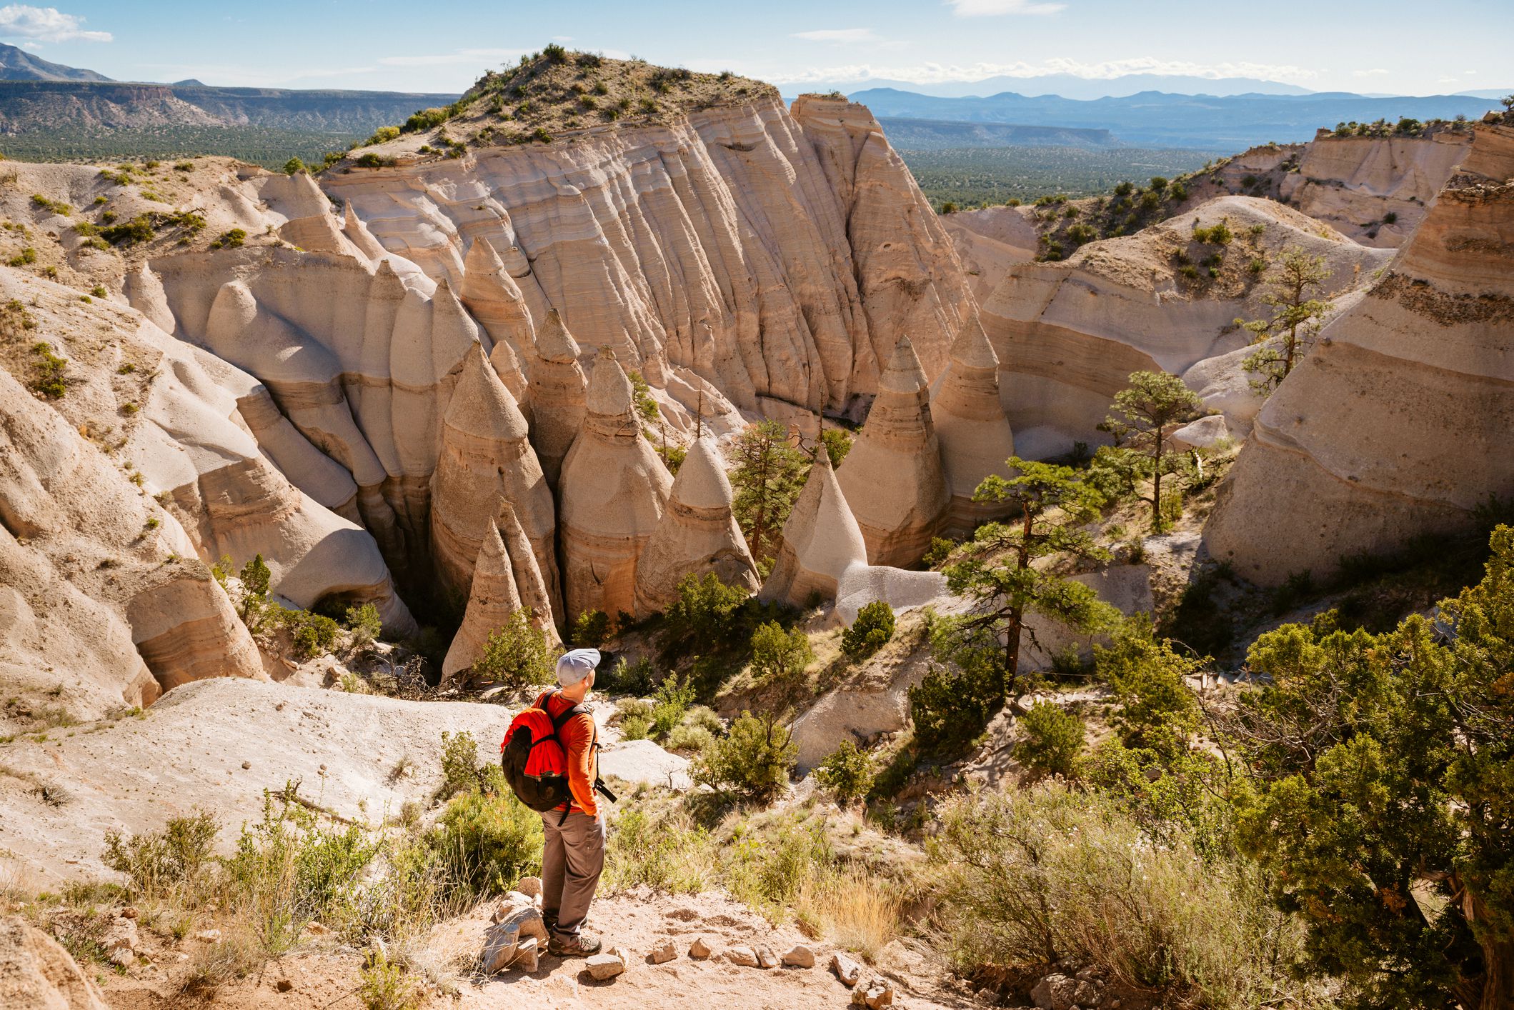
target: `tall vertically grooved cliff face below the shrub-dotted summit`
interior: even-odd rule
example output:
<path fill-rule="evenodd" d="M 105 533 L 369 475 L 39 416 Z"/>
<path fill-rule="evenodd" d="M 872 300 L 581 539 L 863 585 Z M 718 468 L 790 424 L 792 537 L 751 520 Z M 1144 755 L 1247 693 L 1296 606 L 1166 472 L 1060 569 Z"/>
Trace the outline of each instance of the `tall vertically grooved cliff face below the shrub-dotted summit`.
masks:
<path fill-rule="evenodd" d="M 556 307 L 583 345 L 613 348 L 654 386 L 687 373 L 748 410 L 860 407 L 899 333 L 934 374 L 975 313 L 908 170 L 846 101 L 807 97 L 790 115 L 760 97 L 666 126 L 354 168 L 327 186 L 385 248 L 465 298 L 469 262 L 500 274 L 474 253 L 488 241 L 537 336 Z M 480 280 L 477 292 L 491 313 L 518 313 L 507 291 Z"/>

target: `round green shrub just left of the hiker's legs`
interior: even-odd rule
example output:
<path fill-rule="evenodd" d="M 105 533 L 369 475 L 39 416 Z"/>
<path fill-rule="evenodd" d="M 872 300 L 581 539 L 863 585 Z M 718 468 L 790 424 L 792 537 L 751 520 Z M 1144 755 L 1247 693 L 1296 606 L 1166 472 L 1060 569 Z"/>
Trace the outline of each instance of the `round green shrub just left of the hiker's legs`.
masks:
<path fill-rule="evenodd" d="M 509 789 L 472 789 L 447 804 L 431 845 L 454 886 L 483 898 L 540 869 L 542 819 Z"/>

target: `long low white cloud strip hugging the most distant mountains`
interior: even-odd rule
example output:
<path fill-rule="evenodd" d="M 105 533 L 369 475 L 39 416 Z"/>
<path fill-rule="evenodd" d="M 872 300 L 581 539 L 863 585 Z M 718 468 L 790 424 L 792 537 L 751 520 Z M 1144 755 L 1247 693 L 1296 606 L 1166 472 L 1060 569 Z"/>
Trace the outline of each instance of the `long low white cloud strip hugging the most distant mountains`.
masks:
<path fill-rule="evenodd" d="M 1039 64 L 917 64 L 913 67 L 883 67 L 877 64 L 851 64 L 845 67 L 819 67 L 796 74 L 768 74 L 765 80 L 783 80 L 784 83 L 805 82 L 848 82 L 887 77 L 892 80 L 907 80 L 916 85 L 937 85 L 948 80 L 983 80 L 984 77 L 1042 77 L 1045 74 L 1072 74 L 1090 80 L 1108 80 L 1123 74 L 1184 74 L 1190 77 L 1261 77 L 1266 80 L 1310 80 L 1319 71 L 1293 67 L 1290 64 L 1195 64 L 1188 61 L 1155 59 L 1140 56 L 1134 59 L 1113 59 L 1101 64 L 1084 64 L 1076 59 L 1052 58 Z"/>

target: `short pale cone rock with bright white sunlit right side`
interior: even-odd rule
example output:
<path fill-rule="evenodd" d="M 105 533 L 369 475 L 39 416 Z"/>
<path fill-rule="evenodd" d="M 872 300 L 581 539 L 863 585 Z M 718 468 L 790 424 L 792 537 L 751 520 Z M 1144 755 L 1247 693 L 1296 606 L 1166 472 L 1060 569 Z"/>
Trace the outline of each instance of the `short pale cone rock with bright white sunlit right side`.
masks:
<path fill-rule="evenodd" d="M 866 565 L 868 542 L 836 480 L 831 457 L 822 448 L 783 524 L 772 574 L 757 597 L 765 603 L 808 607 L 815 598 L 834 600 L 842 575 Z"/>

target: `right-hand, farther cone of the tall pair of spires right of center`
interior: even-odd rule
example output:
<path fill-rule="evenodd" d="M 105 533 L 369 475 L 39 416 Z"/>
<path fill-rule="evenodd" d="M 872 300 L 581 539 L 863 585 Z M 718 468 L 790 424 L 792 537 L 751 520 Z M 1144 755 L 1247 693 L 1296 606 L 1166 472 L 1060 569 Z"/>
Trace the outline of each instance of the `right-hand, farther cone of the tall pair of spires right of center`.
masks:
<path fill-rule="evenodd" d="M 1007 515 L 1002 504 L 980 504 L 972 492 L 989 474 L 1008 477 L 1014 435 L 999 401 L 999 357 L 981 326 L 964 326 L 952 341 L 951 362 L 931 397 L 931 418 L 942 448 L 951 506 L 948 536 L 967 536 L 980 522 Z"/>

